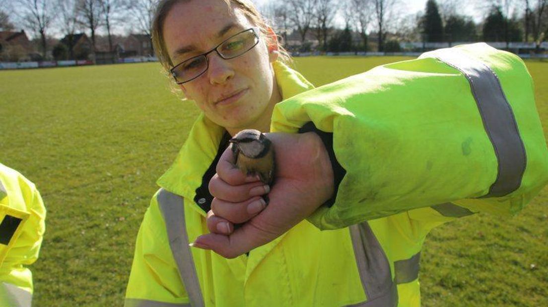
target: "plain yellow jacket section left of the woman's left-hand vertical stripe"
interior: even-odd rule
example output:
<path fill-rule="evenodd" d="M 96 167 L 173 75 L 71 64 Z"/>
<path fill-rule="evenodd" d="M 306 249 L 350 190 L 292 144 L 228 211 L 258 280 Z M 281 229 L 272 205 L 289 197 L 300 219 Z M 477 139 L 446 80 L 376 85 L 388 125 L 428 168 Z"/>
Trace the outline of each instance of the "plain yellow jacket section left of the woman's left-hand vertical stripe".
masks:
<path fill-rule="evenodd" d="M 124 306 L 167 304 L 187 306 L 189 299 L 169 247 L 164 219 L 155 195 L 137 234 Z"/>

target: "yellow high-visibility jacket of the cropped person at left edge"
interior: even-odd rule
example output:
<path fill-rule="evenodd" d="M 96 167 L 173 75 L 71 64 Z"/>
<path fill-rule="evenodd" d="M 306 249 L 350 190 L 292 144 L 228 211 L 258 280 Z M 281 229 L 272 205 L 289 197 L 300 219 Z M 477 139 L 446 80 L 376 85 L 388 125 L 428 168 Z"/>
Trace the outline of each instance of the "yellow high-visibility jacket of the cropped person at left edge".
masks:
<path fill-rule="evenodd" d="M 40 193 L 0 163 L 0 306 L 31 306 L 32 273 L 45 230 Z"/>

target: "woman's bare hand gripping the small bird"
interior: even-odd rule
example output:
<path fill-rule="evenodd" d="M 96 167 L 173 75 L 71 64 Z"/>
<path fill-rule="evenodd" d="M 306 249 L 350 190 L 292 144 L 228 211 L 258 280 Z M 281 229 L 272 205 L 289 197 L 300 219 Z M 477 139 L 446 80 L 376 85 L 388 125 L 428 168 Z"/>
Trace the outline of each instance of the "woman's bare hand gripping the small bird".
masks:
<path fill-rule="evenodd" d="M 276 239 L 332 196 L 333 169 L 317 134 L 266 135 L 276 151 L 277 169 L 270 193 L 256 178 L 246 178 L 234 166 L 231 150 L 225 150 L 209 184 L 215 197 L 207 221 L 212 233 L 201 235 L 192 246 L 235 258 Z M 264 206 L 258 204 L 265 192 L 270 202 L 261 211 Z M 260 207 L 259 211 L 249 210 L 251 204 Z M 233 223 L 243 225 L 234 230 Z"/>

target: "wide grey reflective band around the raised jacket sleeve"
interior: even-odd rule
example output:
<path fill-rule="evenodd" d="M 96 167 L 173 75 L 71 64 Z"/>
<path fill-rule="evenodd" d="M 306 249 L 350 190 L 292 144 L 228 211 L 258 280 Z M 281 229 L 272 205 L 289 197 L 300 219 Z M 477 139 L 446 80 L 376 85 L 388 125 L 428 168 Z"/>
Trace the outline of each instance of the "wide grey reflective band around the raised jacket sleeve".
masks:
<path fill-rule="evenodd" d="M 460 70 L 466 76 L 476 99 L 483 126 L 493 144 L 499 163 L 498 174 L 489 192 L 483 197 L 501 197 L 516 191 L 525 172 L 526 153 L 516 119 L 498 76 L 486 64 L 464 55 L 455 48 L 434 51 L 432 56 Z"/>

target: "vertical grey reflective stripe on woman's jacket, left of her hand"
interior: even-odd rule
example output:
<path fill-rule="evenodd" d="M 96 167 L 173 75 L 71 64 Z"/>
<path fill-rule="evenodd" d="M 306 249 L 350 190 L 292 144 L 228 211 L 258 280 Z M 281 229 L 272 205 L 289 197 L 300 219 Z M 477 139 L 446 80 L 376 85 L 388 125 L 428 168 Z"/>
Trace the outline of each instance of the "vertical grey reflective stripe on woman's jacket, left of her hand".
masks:
<path fill-rule="evenodd" d="M 189 247 L 189 236 L 186 233 L 184 200 L 181 196 L 164 189 L 160 190 L 157 199 L 167 228 L 169 246 L 185 284 L 186 293 L 189 294 L 190 304 L 202 307 L 204 300 Z"/>

